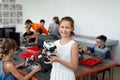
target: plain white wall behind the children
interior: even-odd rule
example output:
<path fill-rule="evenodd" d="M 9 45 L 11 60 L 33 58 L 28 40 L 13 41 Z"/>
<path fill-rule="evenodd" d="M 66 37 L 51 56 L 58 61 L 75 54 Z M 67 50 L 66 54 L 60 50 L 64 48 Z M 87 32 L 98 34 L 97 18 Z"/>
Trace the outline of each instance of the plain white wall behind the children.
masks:
<path fill-rule="evenodd" d="M 16 0 L 23 5 L 23 21 L 46 20 L 46 28 L 53 16 L 71 16 L 75 33 L 88 36 L 106 35 L 120 41 L 120 0 Z M 24 26 L 24 24 L 23 24 Z M 18 31 L 24 31 L 24 28 Z M 120 60 L 120 44 L 115 47 L 115 59 Z"/>

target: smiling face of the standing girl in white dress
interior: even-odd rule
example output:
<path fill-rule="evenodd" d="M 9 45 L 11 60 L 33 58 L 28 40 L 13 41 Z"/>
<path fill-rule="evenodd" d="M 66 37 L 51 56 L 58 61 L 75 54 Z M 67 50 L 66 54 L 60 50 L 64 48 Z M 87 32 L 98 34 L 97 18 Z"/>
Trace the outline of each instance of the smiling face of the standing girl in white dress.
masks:
<path fill-rule="evenodd" d="M 60 23 L 59 33 L 63 38 L 70 37 L 72 30 L 73 29 L 72 29 L 71 23 L 69 21 L 63 20 Z"/>

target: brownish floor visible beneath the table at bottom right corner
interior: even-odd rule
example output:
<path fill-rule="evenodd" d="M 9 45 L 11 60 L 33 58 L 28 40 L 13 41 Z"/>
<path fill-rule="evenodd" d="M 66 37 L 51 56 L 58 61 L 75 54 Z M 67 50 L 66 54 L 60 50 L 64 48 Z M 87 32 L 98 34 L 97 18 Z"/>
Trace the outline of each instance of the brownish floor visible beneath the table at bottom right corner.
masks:
<path fill-rule="evenodd" d="M 98 80 L 102 80 L 102 73 L 98 75 Z M 104 80 L 109 80 L 109 72 L 105 73 Z M 113 67 L 113 80 L 120 80 L 120 65 Z"/>

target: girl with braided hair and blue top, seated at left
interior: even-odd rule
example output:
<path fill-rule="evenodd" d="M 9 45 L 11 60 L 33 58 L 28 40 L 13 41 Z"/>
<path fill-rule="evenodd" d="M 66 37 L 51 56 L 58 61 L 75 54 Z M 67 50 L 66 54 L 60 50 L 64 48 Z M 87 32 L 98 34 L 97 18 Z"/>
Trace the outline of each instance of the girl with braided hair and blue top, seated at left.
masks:
<path fill-rule="evenodd" d="M 16 42 L 12 39 L 3 39 L 0 44 L 0 80 L 28 80 L 33 74 L 40 70 L 40 66 L 36 66 L 29 74 L 22 76 L 17 71 L 17 68 L 24 66 L 24 63 L 15 66 L 15 64 L 10 61 L 10 58 L 15 54 L 16 47 Z"/>

